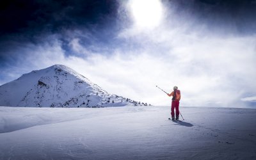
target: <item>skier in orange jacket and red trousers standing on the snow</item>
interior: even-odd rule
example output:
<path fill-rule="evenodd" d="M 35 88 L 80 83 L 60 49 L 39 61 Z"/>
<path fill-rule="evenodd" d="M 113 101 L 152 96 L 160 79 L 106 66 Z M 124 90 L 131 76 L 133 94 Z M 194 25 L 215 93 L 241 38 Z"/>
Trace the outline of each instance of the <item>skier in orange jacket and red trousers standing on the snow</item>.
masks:
<path fill-rule="evenodd" d="M 174 109 L 176 111 L 176 120 L 179 120 L 179 104 L 180 104 L 180 90 L 178 90 L 178 87 L 177 86 L 174 86 L 173 87 L 173 92 L 172 93 L 167 93 L 167 95 L 169 97 L 173 96 L 172 97 L 172 120 L 174 120 Z"/>

